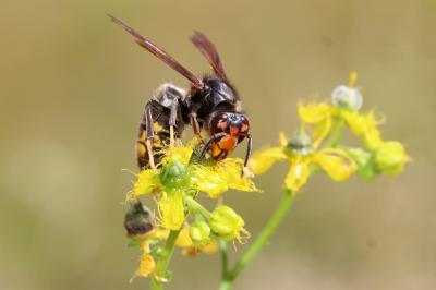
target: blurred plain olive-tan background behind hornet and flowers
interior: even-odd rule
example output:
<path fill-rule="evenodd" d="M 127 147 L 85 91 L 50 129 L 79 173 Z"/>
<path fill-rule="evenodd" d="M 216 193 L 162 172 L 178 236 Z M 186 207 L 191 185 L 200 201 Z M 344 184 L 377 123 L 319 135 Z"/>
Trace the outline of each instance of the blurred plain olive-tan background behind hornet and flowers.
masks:
<path fill-rule="evenodd" d="M 129 278 L 124 194 L 145 101 L 186 81 L 110 23 L 108 11 L 193 72 L 193 29 L 219 48 L 255 148 L 298 126 L 299 99 L 327 99 L 359 72 L 364 106 L 414 162 L 396 179 L 313 179 L 237 289 L 435 289 L 435 1 L 11 1 L 0 10 L 0 289 L 148 289 Z M 235 155 L 242 156 L 240 149 Z M 286 166 L 227 202 L 255 235 Z M 245 245 L 238 245 L 232 257 Z M 178 253 L 169 289 L 216 289 L 219 258 Z"/>

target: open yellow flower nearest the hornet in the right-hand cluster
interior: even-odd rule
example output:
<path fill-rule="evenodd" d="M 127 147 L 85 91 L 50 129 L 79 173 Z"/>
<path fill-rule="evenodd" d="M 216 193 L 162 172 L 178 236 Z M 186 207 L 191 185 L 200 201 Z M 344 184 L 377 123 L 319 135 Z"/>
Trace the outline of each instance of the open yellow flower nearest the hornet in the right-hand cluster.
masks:
<path fill-rule="evenodd" d="M 336 181 L 347 180 L 355 173 L 358 167 L 344 150 L 339 148 L 324 148 L 316 152 L 313 145 L 311 147 L 307 144 L 304 132 L 298 133 L 296 137 L 302 140 L 300 144 L 293 144 L 298 142 L 294 138 L 287 146 L 272 147 L 255 154 L 249 162 L 250 170 L 255 173 L 263 173 L 261 170 L 256 170 L 258 165 L 268 164 L 269 168 L 278 160 L 286 160 L 290 165 L 290 168 L 284 180 L 284 185 L 293 192 L 299 191 L 307 182 L 312 165 L 318 166 Z M 280 140 L 280 143 L 283 143 L 283 136 Z M 305 146 L 308 146 L 308 148 Z M 274 153 L 274 156 L 279 156 L 279 158 L 270 158 L 270 153 Z"/>

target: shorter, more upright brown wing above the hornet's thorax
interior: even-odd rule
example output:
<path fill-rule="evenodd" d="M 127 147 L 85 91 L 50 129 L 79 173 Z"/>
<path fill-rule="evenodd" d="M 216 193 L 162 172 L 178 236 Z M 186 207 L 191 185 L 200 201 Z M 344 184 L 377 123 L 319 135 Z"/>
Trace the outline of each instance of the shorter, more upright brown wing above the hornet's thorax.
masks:
<path fill-rule="evenodd" d="M 222 68 L 221 60 L 215 45 L 206 37 L 206 35 L 194 32 L 191 37 L 191 41 L 198 48 L 203 56 L 206 57 L 207 61 L 210 63 L 214 72 L 222 80 L 227 81 L 227 75 L 225 69 Z"/>

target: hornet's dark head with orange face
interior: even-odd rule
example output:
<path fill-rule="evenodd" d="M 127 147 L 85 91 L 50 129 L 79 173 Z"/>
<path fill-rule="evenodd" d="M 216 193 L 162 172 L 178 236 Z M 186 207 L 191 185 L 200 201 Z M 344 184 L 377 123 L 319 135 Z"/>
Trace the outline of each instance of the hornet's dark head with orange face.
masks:
<path fill-rule="evenodd" d="M 209 121 L 210 135 L 217 133 L 226 133 L 226 135 L 211 144 L 211 157 L 216 160 L 225 159 L 234 150 L 238 143 L 245 138 L 249 128 L 249 120 L 242 113 L 219 112 L 213 116 Z"/>

